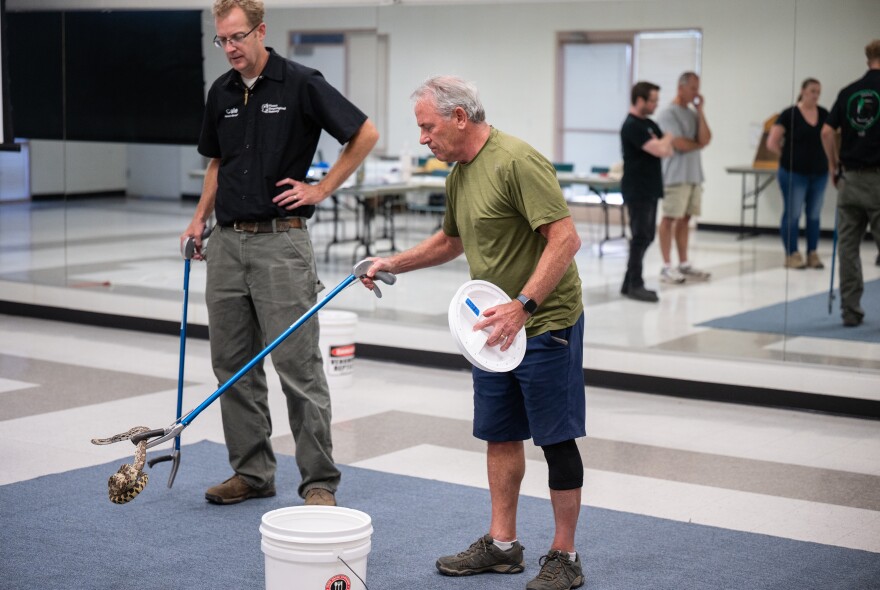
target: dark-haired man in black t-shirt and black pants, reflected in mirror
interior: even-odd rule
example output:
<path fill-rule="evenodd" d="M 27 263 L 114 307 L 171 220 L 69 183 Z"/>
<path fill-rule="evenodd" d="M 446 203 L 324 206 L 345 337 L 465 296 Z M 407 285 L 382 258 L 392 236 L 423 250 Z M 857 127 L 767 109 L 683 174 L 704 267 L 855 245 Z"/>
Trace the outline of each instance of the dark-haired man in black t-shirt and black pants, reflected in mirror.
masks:
<path fill-rule="evenodd" d="M 620 190 L 629 212 L 632 239 L 629 260 L 620 292 L 636 301 L 655 303 L 657 293 L 645 288 L 642 261 L 657 229 L 657 201 L 663 198 L 661 159 L 672 155 L 671 134 L 648 118 L 657 108 L 660 87 L 638 82 L 632 88 L 630 109 L 620 129 L 623 149 L 623 178 Z"/>

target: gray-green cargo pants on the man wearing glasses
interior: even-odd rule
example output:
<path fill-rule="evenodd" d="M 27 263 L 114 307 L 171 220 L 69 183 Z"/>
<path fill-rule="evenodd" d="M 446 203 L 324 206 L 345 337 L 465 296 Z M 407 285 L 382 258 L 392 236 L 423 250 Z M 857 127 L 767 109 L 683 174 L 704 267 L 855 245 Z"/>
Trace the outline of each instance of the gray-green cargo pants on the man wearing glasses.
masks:
<path fill-rule="evenodd" d="M 308 230 L 243 233 L 218 228 L 207 247 L 205 299 L 214 374 L 225 383 L 312 307 L 323 288 Z M 318 347 L 318 317 L 278 345 L 272 363 L 287 397 L 300 496 L 314 487 L 335 492 L 330 391 Z M 248 485 L 274 483 L 266 374 L 262 362 L 220 397 L 229 463 Z"/>

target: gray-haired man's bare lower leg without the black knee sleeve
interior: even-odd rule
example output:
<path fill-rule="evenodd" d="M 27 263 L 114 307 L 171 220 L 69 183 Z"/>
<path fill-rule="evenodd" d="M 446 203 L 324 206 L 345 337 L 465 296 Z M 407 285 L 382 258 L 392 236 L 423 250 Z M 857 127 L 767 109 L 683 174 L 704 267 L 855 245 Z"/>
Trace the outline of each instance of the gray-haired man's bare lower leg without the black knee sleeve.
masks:
<path fill-rule="evenodd" d="M 492 524 L 489 534 L 499 541 L 516 539 L 516 507 L 519 488 L 526 473 L 522 441 L 490 442 L 486 453 Z"/>

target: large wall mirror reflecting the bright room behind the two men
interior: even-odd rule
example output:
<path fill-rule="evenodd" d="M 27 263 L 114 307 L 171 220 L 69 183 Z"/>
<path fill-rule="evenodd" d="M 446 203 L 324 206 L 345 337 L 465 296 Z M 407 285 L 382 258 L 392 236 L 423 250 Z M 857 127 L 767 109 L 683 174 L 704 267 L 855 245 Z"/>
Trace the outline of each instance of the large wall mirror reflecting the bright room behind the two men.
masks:
<path fill-rule="evenodd" d="M 131 4 L 7 0 L 7 11 L 16 18 L 28 14 L 50 21 L 54 17 L 46 13 L 68 15 L 50 23 L 67 32 L 83 18 L 76 11 L 125 15 Z M 176 28 L 173 19 L 137 22 L 154 39 L 179 41 L 181 56 L 184 44 L 195 43 L 187 51 L 201 53 L 199 82 L 206 89 L 228 64 L 211 42 L 210 10 L 181 4 L 187 10 L 180 14 L 195 15 L 200 31 Z M 876 382 L 876 247 L 866 241 L 862 251 L 863 305 L 873 331 L 844 330 L 838 280 L 835 276 L 832 282 L 831 275 L 836 190 L 827 186 L 821 206 L 818 255 L 824 268 L 786 268 L 780 185 L 772 169 L 754 169 L 765 123 L 797 101 L 804 79 L 821 82 L 819 104 L 830 108 L 839 89 L 864 73 L 864 46 L 877 34 L 875 22 L 866 18 L 876 12 L 873 0 L 834 5 L 821 0 L 266 4 L 266 44 L 326 69 L 377 123 L 382 139 L 361 171 L 364 182 L 398 182 L 411 174 L 401 164 L 402 154 L 416 167 L 430 155 L 418 144 L 409 98 L 429 75 L 451 73 L 474 81 L 493 125 L 554 162 L 572 164 L 574 175 L 601 175 L 620 160 L 615 130 L 628 108 L 633 78 L 657 78 L 662 107 L 675 95 L 676 72 L 696 70 L 712 141 L 702 152 L 703 208 L 689 246 L 693 262 L 710 271 L 711 279 L 660 284 L 655 243 L 645 268 L 649 285 L 659 288 L 660 303 L 623 299 L 619 288 L 627 244 L 619 239 L 619 201 L 609 197 L 607 219 L 595 201 L 573 201 L 584 243 L 577 263 L 587 309 L 585 363 L 597 371 L 689 379 L 691 368 L 711 360 L 721 367 L 717 373 L 708 378 L 703 372 L 694 380 L 817 394 L 828 393 L 844 374 L 854 391 L 867 392 Z M 170 14 L 167 3 L 137 3 L 139 11 L 160 9 L 157 14 Z M 20 136 L 20 155 L 0 154 L 0 299 L 96 318 L 126 316 L 142 325 L 174 323 L 180 317 L 182 272 L 177 237 L 192 215 L 205 162 L 192 141 L 167 131 L 192 135 L 187 129 L 192 119 L 183 115 L 191 92 L 183 81 L 151 83 L 149 63 L 128 68 L 137 70 L 132 80 L 145 99 L 138 122 L 148 131 L 166 132 L 150 140 L 141 131 L 141 139 L 126 141 L 124 132 L 137 131 L 127 129 L 112 109 L 122 100 L 120 86 L 135 82 L 126 82 L 112 66 L 119 49 L 111 41 L 93 36 L 90 50 L 97 48 L 106 59 L 76 69 L 70 65 L 76 56 L 66 53 L 60 39 L 40 47 L 55 52 L 61 68 L 45 80 L 48 89 L 28 89 L 28 106 L 44 109 L 43 123 L 61 125 L 64 135 Z M 152 42 L 145 37 L 144 43 Z M 14 56 L 27 47 L 22 40 L 8 50 Z M 193 74 L 181 73 L 192 81 Z M 94 84 L 102 90 L 91 110 L 85 105 L 89 117 L 72 114 L 74 98 L 88 98 L 78 90 Z M 89 135 L 99 128 L 119 135 Z M 332 142 L 322 144 L 320 159 L 332 163 L 334 149 Z M 436 192 L 423 188 L 377 204 L 352 191 L 327 202 L 311 226 L 323 282 L 335 285 L 354 260 L 392 242 L 401 248 L 429 235 L 442 215 L 432 199 Z M 577 187 L 574 194 L 586 195 Z M 358 241 L 367 228 L 364 216 L 372 219 L 367 244 Z M 803 235 L 799 242 L 806 254 Z M 202 266 L 193 267 L 190 321 L 206 325 Z M 331 307 L 360 314 L 359 342 L 454 353 L 446 308 L 468 278 L 466 265 L 456 261 L 402 277 L 381 301 L 350 289 Z"/>

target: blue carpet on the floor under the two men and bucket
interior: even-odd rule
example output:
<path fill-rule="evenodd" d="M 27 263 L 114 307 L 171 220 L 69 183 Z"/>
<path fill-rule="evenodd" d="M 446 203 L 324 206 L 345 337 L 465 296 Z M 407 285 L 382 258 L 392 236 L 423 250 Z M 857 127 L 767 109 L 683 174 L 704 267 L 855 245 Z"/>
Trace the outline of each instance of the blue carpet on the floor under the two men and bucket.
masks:
<path fill-rule="evenodd" d="M 0 587 L 263 588 L 260 518 L 301 503 L 293 459 L 279 456 L 275 498 L 214 506 L 203 494 L 228 475 L 224 447 L 196 443 L 181 456 L 174 488 L 165 485 L 169 464 L 157 465 L 147 488 L 122 506 L 107 499 L 118 463 L 0 487 Z M 549 547 L 550 502 L 523 497 L 523 574 L 441 576 L 436 557 L 466 548 L 486 530 L 488 492 L 353 467 L 342 472 L 340 503 L 373 519 L 371 590 L 521 589 Z M 581 512 L 577 547 L 589 590 L 880 587 L 880 554 L 597 508 Z M 313 590 L 295 580 L 290 588 Z"/>

